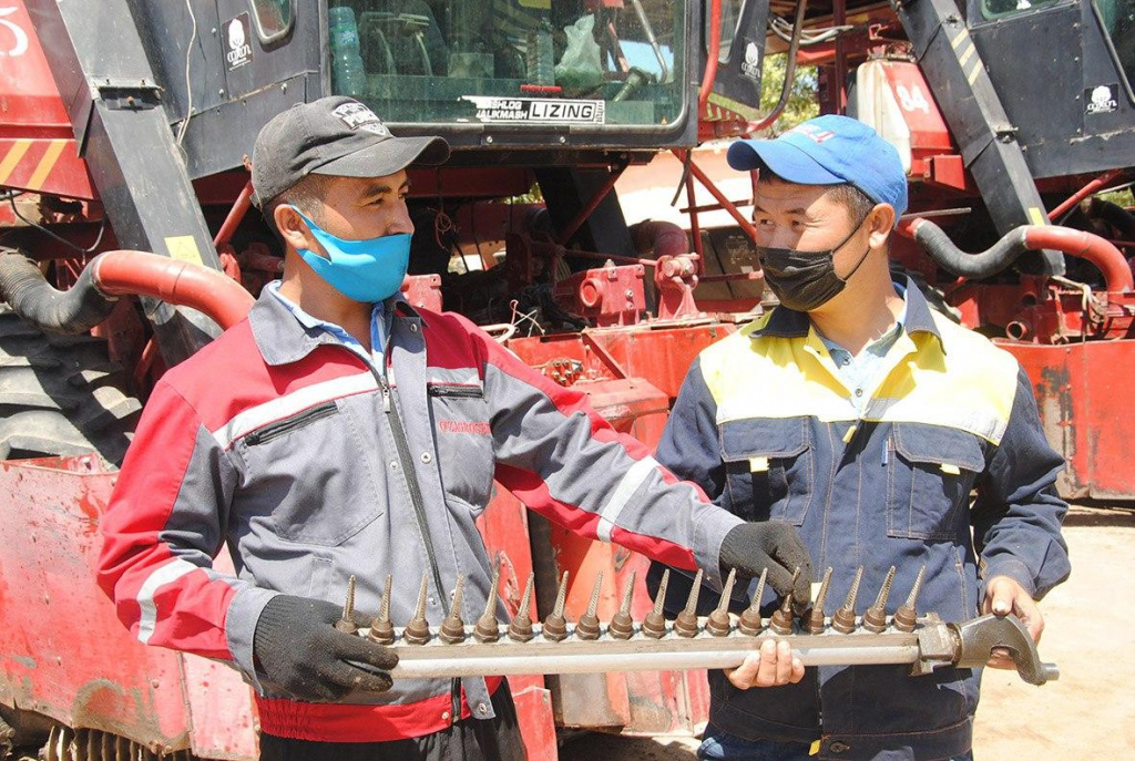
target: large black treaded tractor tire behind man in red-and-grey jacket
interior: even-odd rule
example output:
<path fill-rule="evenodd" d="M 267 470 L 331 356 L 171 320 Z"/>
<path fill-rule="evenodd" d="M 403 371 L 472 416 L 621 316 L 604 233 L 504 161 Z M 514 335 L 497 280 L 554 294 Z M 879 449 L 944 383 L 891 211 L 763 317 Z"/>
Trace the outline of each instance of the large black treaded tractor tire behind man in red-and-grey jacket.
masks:
<path fill-rule="evenodd" d="M 0 303 L 0 459 L 96 453 L 117 467 L 142 409 L 92 336 L 44 333 Z"/>

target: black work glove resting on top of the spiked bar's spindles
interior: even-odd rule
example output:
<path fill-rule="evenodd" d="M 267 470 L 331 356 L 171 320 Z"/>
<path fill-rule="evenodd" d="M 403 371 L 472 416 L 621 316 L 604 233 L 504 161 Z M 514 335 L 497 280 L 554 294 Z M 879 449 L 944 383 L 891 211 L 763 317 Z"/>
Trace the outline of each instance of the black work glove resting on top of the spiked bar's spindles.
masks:
<path fill-rule="evenodd" d="M 792 587 L 792 574 L 800 578 Z M 756 578 L 768 568 L 768 583 L 781 594 L 792 592 L 798 606 L 812 601 L 812 558 L 800 541 L 796 526 L 776 521 L 743 523 L 725 534 L 721 543 L 722 575 L 737 568 L 737 575 Z"/>

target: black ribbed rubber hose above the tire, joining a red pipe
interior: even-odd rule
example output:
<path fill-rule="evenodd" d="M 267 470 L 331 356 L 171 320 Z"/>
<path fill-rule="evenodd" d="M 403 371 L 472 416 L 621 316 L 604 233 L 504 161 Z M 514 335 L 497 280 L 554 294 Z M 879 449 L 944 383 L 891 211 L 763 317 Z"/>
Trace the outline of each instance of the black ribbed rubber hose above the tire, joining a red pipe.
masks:
<path fill-rule="evenodd" d="M 107 319 L 117 298 L 94 287 L 90 265 L 68 290 L 56 290 L 39 265 L 11 248 L 0 248 L 0 302 L 40 330 L 56 333 L 85 333 Z"/>

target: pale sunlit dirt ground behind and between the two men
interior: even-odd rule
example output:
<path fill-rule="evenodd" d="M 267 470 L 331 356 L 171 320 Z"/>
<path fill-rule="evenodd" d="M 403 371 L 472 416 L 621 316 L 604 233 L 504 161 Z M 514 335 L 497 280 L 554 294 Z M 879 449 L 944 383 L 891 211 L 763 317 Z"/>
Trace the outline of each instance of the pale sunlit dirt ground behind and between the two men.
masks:
<path fill-rule="evenodd" d="M 1060 667 L 1042 687 L 985 670 L 974 756 L 1135 759 L 1135 511 L 1074 507 L 1065 522 L 1073 574 L 1043 602 L 1041 656 Z M 588 735 L 564 761 L 689 761 L 697 741 Z"/>

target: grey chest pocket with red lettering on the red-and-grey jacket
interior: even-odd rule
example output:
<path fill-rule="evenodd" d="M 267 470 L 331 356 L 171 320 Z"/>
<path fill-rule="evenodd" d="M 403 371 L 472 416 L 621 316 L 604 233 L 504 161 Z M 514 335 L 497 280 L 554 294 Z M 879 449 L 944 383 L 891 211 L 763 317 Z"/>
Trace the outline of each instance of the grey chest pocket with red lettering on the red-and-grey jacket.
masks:
<path fill-rule="evenodd" d="M 447 494 L 485 509 L 493 490 L 493 429 L 480 386 L 429 383 L 442 485 Z"/>

